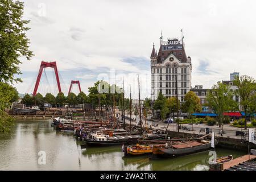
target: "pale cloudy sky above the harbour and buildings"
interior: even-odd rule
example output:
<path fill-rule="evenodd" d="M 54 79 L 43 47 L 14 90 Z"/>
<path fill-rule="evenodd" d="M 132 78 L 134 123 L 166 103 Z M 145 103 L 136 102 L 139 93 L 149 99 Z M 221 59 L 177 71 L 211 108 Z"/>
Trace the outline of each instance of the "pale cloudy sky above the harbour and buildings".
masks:
<path fill-rule="evenodd" d="M 31 93 L 44 60 L 57 62 L 64 92 L 71 80 L 80 80 L 88 93 L 97 79 L 110 80 L 111 72 L 119 85 L 124 77 L 126 90 L 131 85 L 137 98 L 139 73 L 143 97 L 150 96 L 152 43 L 158 50 L 161 30 L 166 40 L 181 38 L 181 28 L 192 59 L 192 86 L 211 88 L 233 71 L 255 78 L 255 7 L 249 0 L 27 0 L 24 19 L 31 20 L 27 36 L 35 56 L 22 59 L 23 83 L 15 86 Z M 39 91 L 57 92 L 54 82 L 47 68 Z"/>

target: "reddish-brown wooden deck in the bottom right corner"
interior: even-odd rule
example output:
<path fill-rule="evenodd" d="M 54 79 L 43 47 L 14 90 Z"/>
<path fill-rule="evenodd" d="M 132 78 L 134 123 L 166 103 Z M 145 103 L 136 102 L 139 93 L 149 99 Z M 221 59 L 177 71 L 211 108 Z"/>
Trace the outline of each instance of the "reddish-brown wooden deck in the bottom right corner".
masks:
<path fill-rule="evenodd" d="M 232 170 L 232 171 L 234 169 L 236 171 L 239 171 L 242 168 L 246 168 L 246 166 L 250 166 L 250 164 L 246 165 L 246 163 L 252 163 L 252 165 L 256 164 L 254 161 L 247 162 L 248 160 L 255 160 L 255 159 L 256 159 L 256 155 L 250 155 L 250 158 L 249 158 L 249 155 L 244 155 L 244 156 L 241 156 L 240 158 L 236 158 L 236 159 L 230 160 L 229 162 L 224 163 L 223 169 Z"/>

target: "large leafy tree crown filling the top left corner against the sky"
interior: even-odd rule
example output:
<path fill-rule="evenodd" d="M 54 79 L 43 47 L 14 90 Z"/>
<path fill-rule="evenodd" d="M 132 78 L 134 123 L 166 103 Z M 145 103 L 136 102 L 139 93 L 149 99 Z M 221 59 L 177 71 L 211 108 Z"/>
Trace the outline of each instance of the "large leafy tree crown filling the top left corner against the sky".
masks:
<path fill-rule="evenodd" d="M 29 20 L 23 20 L 24 3 L 20 1 L 1 0 L 0 3 L 0 81 L 21 81 L 15 78 L 20 75 L 18 65 L 19 57 L 31 60 L 32 52 L 28 50 L 30 40 L 25 32 L 30 28 L 25 27 Z"/>

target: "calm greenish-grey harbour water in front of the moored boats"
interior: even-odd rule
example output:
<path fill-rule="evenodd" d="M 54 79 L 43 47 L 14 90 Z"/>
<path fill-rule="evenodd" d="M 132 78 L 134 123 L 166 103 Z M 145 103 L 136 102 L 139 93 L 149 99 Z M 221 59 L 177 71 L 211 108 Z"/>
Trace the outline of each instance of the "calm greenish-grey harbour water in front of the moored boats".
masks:
<path fill-rule="evenodd" d="M 72 134 L 57 132 L 51 120 L 16 121 L 10 137 L 0 137 L 0 170 L 208 170 L 208 152 L 175 159 L 123 158 L 122 147 L 83 148 Z M 38 164 L 38 152 L 46 164 Z M 241 151 L 217 148 L 217 155 Z"/>

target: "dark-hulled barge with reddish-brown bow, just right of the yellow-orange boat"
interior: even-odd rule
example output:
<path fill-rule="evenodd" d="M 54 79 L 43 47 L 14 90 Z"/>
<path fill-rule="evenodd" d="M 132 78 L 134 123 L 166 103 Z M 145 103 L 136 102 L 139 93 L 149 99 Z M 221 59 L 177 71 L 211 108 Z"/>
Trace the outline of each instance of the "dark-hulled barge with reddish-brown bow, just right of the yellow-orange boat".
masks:
<path fill-rule="evenodd" d="M 163 158 L 175 158 L 177 156 L 193 154 L 201 151 L 207 151 L 207 150 L 210 150 L 210 148 L 212 148 L 210 143 L 201 144 L 199 146 L 192 146 L 192 147 L 186 147 L 186 148 L 172 148 L 172 149 L 165 148 L 164 145 L 162 144 L 160 146 L 153 147 L 153 155 L 157 155 Z"/>

